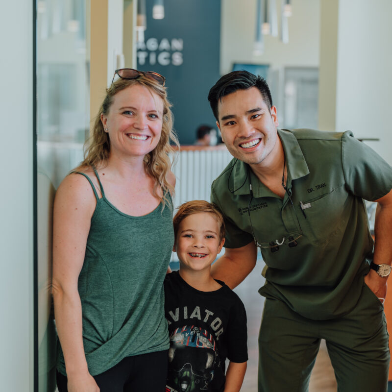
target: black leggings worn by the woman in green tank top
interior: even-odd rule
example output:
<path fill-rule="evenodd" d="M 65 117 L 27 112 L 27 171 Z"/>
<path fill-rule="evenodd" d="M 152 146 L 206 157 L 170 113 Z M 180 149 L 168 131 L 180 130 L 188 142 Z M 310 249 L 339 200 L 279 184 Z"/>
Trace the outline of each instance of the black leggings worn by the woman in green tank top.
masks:
<path fill-rule="evenodd" d="M 113 368 L 94 376 L 100 392 L 164 392 L 168 351 L 125 357 Z M 57 371 L 57 388 L 67 392 L 67 377 Z"/>

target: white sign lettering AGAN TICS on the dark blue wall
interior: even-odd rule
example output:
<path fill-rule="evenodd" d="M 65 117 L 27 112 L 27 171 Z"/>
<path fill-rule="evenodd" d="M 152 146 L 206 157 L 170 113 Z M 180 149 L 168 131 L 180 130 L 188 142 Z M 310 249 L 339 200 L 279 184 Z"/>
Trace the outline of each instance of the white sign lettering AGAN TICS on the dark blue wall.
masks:
<path fill-rule="evenodd" d="M 148 38 L 146 42 L 141 42 L 137 46 L 138 64 L 140 65 L 176 65 L 183 63 L 182 49 L 184 40 L 173 38 L 169 40 L 162 38 Z"/>

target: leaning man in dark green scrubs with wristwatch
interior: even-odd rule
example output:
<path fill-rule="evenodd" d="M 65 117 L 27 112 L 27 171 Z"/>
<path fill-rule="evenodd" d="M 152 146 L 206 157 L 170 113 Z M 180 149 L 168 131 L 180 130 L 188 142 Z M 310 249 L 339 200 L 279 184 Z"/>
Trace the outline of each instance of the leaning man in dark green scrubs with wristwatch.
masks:
<path fill-rule="evenodd" d="M 213 275 L 237 286 L 257 247 L 266 263 L 259 392 L 307 391 L 320 339 L 339 391 L 386 391 L 392 168 L 349 131 L 277 129 L 268 85 L 246 71 L 208 100 L 234 157 L 212 184 L 226 224 Z M 378 202 L 374 249 L 364 199 Z"/>

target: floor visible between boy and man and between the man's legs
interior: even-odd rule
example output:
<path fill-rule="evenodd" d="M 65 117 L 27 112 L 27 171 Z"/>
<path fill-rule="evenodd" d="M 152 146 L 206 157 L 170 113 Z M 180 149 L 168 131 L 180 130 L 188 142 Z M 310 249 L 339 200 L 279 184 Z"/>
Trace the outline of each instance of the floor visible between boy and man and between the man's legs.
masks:
<path fill-rule="evenodd" d="M 257 366 L 258 366 L 258 334 L 261 314 L 264 306 L 264 297 L 258 293 L 265 279 L 261 276 L 264 267 L 263 261 L 258 261 L 254 270 L 234 290 L 245 304 L 248 326 L 248 355 L 249 360 L 245 380 L 241 392 L 257 391 Z M 337 385 L 331 362 L 325 347 L 321 342 L 319 355 L 313 368 L 309 392 L 336 392 Z M 271 391 L 279 392 L 279 391 Z"/>

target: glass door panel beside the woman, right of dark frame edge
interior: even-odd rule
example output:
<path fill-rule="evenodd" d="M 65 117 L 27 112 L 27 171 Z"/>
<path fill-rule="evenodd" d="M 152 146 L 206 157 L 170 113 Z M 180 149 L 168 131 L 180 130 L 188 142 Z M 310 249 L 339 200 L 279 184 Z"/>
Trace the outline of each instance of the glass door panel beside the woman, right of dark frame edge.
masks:
<path fill-rule="evenodd" d="M 38 390 L 55 391 L 51 282 L 55 190 L 83 158 L 90 128 L 89 0 L 36 2 Z"/>

